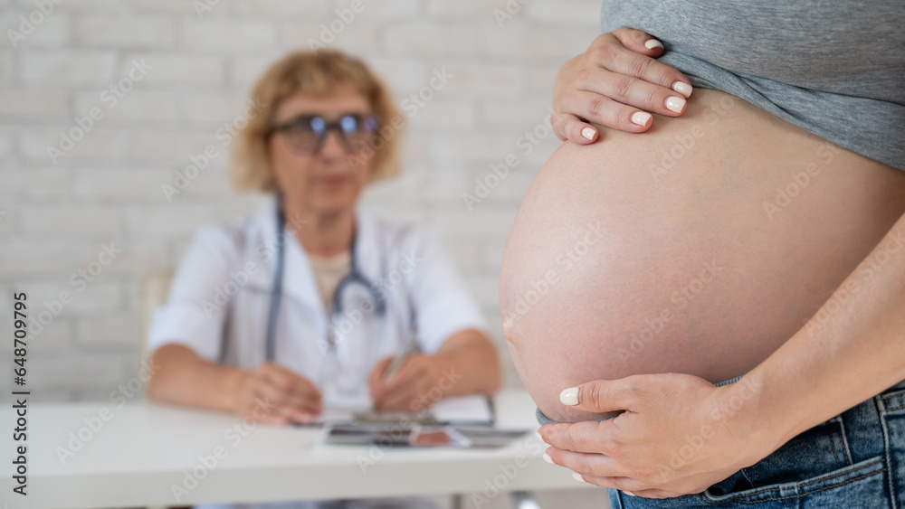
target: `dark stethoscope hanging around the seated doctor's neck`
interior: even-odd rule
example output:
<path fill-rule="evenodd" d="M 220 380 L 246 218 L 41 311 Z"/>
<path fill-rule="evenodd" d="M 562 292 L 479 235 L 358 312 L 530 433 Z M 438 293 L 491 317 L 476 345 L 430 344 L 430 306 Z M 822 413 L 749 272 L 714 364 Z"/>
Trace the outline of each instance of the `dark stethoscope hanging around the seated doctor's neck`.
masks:
<path fill-rule="evenodd" d="M 282 298 L 282 281 L 283 281 L 283 261 L 285 259 L 285 235 L 283 230 L 286 227 L 286 217 L 282 210 L 282 200 L 280 197 L 276 203 L 276 220 L 277 220 L 277 253 L 275 268 L 273 270 L 273 285 L 271 287 L 271 304 L 267 317 L 267 336 L 266 336 L 266 359 L 273 362 L 276 358 L 276 328 L 277 318 L 280 316 L 280 304 Z M 358 268 L 357 260 L 357 231 L 352 234 L 351 246 L 351 262 L 349 272 L 346 276 L 339 280 L 336 291 L 333 292 L 332 299 L 332 315 L 334 318 L 343 314 L 341 294 L 344 289 L 353 285 L 360 285 L 367 289 L 368 294 L 374 299 L 374 311 L 377 316 L 386 315 L 386 303 L 384 296 L 377 287 L 369 281 L 361 270 Z M 329 346 L 335 346 L 333 341 L 332 327 L 329 328 Z"/>

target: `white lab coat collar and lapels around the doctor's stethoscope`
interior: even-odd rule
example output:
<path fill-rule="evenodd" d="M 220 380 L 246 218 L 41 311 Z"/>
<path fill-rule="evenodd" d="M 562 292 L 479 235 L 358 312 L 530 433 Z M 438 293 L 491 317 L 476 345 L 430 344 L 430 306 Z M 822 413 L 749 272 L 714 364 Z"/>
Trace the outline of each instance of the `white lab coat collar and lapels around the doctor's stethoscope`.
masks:
<path fill-rule="evenodd" d="M 252 248 L 258 259 L 263 258 L 265 270 L 255 274 L 255 286 L 270 292 L 273 287 L 273 274 L 276 270 L 276 198 L 271 198 L 252 218 Z M 379 224 L 367 212 L 356 208 L 356 260 L 358 270 L 374 285 L 383 282 L 381 267 L 386 253 L 381 250 Z M 310 309 L 319 309 L 323 316 L 324 309 L 320 300 L 314 272 L 311 269 L 308 253 L 302 249 L 296 239 L 292 222 L 304 221 L 303 218 L 288 218 L 283 231 L 285 258 L 283 260 L 283 295 L 297 300 Z"/>

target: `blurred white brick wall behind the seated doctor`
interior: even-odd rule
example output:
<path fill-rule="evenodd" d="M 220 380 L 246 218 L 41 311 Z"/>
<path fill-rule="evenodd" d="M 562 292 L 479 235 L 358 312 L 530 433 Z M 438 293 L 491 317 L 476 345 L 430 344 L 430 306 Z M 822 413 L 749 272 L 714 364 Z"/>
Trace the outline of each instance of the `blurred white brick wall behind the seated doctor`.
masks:
<path fill-rule="evenodd" d="M 599 1 L 364 1 L 331 45 L 364 57 L 400 101 L 434 69 L 454 76 L 411 119 L 403 176 L 367 193 L 367 208 L 441 232 L 508 358 L 496 302 L 500 256 L 521 196 L 558 144 L 550 136 L 524 156 L 517 141 L 547 117 L 558 66 L 598 33 Z M 519 3 L 500 26 L 494 9 Z M 0 325 L 9 330 L 13 291 L 30 292 L 33 311 L 61 291 L 74 296 L 30 352 L 41 399 L 103 397 L 133 375 L 140 278 L 175 265 L 198 226 L 260 203 L 233 193 L 227 156 L 173 203 L 160 185 L 216 145 L 216 129 L 241 113 L 266 65 L 307 48 L 348 4 L 221 0 L 199 15 L 186 0 L 67 0 L 15 46 L 0 42 Z M 35 9 L 29 0 L 2 5 L 4 35 Z M 142 59 L 152 66 L 147 76 L 110 107 L 101 94 Z M 103 118 L 52 162 L 47 146 L 91 108 Z M 462 193 L 510 154 L 518 167 L 470 212 Z M 110 241 L 123 253 L 79 292 L 71 276 Z M 519 384 L 510 365 L 506 380 Z"/>

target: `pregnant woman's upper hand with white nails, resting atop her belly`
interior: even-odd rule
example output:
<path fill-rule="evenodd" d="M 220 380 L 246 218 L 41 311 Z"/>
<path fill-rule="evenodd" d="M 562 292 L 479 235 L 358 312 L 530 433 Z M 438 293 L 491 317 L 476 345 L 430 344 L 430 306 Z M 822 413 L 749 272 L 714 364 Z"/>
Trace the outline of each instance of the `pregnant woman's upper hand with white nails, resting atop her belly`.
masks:
<path fill-rule="evenodd" d="M 622 27 L 567 61 L 553 86 L 557 137 L 586 145 L 598 137 L 591 123 L 641 133 L 651 127 L 651 113 L 681 115 L 691 81 L 654 60 L 662 52 L 662 43 L 648 33 Z"/>

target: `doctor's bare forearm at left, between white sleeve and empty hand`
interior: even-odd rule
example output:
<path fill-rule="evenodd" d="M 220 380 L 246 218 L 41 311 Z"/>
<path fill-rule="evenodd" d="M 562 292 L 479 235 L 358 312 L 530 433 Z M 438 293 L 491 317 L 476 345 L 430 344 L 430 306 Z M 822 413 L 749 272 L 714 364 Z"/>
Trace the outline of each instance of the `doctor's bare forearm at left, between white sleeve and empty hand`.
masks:
<path fill-rule="evenodd" d="M 181 344 L 165 344 L 152 358 L 157 371 L 148 398 L 205 410 L 236 411 L 235 395 L 245 372 L 200 358 Z"/>

